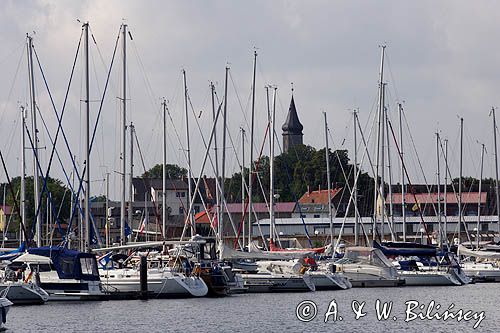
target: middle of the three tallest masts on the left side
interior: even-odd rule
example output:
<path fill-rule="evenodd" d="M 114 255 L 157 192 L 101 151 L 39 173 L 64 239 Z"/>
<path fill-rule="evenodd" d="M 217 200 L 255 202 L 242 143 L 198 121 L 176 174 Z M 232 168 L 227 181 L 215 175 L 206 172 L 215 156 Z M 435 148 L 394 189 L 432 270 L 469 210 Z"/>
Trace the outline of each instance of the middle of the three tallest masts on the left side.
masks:
<path fill-rule="evenodd" d="M 84 251 L 90 251 L 90 90 L 89 90 L 89 23 L 85 29 L 85 232 Z"/>

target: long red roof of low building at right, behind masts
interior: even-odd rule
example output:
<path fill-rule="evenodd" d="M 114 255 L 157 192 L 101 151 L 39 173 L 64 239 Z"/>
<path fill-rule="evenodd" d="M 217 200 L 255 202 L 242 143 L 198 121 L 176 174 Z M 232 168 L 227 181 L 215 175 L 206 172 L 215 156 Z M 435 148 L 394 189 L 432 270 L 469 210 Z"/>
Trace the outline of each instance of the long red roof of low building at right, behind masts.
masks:
<path fill-rule="evenodd" d="M 481 203 L 486 203 L 486 192 L 481 192 Z M 438 196 L 437 193 L 418 193 L 415 194 L 417 201 L 420 204 L 437 204 Z M 405 193 L 405 201 L 407 204 L 414 204 L 415 197 L 411 193 Z M 392 202 L 395 204 L 401 203 L 402 195 L 401 193 L 393 193 L 392 194 Z M 440 201 L 444 203 L 444 194 L 441 193 Z M 389 202 L 389 196 L 386 197 L 385 202 Z M 463 204 L 477 204 L 479 200 L 479 192 L 467 192 L 462 193 L 462 203 Z M 454 193 L 446 193 L 446 202 L 449 204 L 458 204 L 457 195 Z"/>

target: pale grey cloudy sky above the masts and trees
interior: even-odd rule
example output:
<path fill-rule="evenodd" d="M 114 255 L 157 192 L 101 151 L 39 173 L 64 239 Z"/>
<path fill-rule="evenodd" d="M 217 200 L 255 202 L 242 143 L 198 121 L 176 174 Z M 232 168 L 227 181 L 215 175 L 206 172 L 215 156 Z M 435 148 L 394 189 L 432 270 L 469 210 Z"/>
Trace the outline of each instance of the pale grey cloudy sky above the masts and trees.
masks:
<path fill-rule="evenodd" d="M 209 85 L 214 82 L 217 98 L 222 101 L 226 66 L 230 68 L 226 173 L 239 168 L 240 128 L 247 133 L 248 163 L 254 51 L 258 53 L 254 156 L 267 125 L 265 86 L 277 87 L 276 132 L 281 145 L 281 125 L 292 82 L 304 125 L 304 143 L 324 147 L 322 113 L 326 112 L 330 146 L 351 151 L 352 111 L 358 110 L 367 138 L 375 123 L 380 45 L 386 45 L 388 117 L 398 132 L 396 105 L 403 104 L 404 156 L 413 182 L 435 182 L 436 132 L 448 140 L 450 172 L 458 176 L 460 117 L 464 118 L 464 175 L 479 176 L 481 143 L 486 146 L 484 175 L 494 175 L 489 114 L 492 107 L 500 105 L 500 46 L 496 38 L 500 3 L 496 1 L 2 1 L 0 7 L 0 149 L 11 177 L 19 175 L 21 168 L 20 107 L 29 105 L 26 34 L 33 37 L 40 67 L 60 113 L 85 21 L 93 36 L 89 45 L 92 126 L 120 25 L 126 23 L 132 36 L 127 40 L 126 119 L 134 123 L 140 147 L 134 143 L 135 174 L 161 163 L 163 98 L 171 116 L 167 120 L 167 163 L 186 165 L 183 69 L 190 99 L 193 175 L 213 174 L 210 162 L 201 170 L 204 142 L 208 142 L 212 127 Z M 120 189 L 121 42 L 91 154 L 92 193 L 104 192 L 103 179 L 110 173 L 112 198 Z M 75 157 L 79 172 L 84 161 L 83 60 L 80 49 L 62 121 L 70 149 L 61 134 L 56 145 L 61 162 L 54 157 L 50 171 L 64 182 L 72 177 L 70 156 Z M 34 68 L 40 160 L 46 170 L 57 118 L 36 60 Z M 27 120 L 31 126 L 31 116 Z M 369 140 L 372 159 L 374 135 Z M 219 151 L 221 137 L 219 123 Z M 361 160 L 363 147 L 359 145 Z M 389 146 L 393 182 L 397 182 L 398 156 L 393 143 Z M 29 149 L 27 173 L 32 174 Z M 267 149 L 264 144 L 266 155 Z M 126 154 L 128 160 L 129 151 Z M 366 161 L 365 156 L 362 165 L 368 170 Z M 5 181 L 3 170 L 0 180 Z"/>

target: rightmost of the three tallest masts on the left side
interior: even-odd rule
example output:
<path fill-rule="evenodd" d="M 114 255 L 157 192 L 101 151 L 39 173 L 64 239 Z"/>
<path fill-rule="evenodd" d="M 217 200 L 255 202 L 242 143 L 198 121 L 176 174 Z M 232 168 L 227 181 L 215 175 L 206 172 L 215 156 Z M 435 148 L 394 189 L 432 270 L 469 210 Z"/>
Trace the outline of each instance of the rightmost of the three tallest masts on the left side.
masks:
<path fill-rule="evenodd" d="M 122 79 L 122 195 L 121 195 L 121 205 L 120 205 L 120 244 L 124 245 L 127 243 L 127 238 L 125 235 L 125 178 L 127 173 L 127 25 L 122 24 L 122 60 L 123 60 L 123 79 Z"/>

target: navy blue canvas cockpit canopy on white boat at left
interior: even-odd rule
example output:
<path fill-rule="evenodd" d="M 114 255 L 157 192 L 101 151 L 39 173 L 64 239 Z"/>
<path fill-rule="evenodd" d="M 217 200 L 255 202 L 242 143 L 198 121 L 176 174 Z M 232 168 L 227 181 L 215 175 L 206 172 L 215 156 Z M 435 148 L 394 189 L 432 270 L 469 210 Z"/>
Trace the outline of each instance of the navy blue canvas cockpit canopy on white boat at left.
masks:
<path fill-rule="evenodd" d="M 50 258 L 60 279 L 99 281 L 97 261 L 91 253 L 61 246 L 42 246 L 29 249 L 28 254 Z M 26 259 L 29 263 L 29 256 Z"/>

